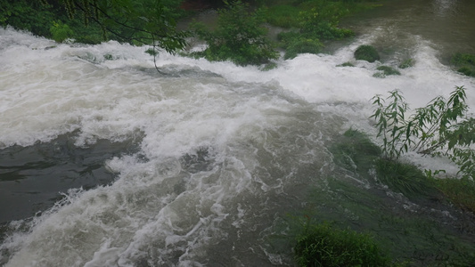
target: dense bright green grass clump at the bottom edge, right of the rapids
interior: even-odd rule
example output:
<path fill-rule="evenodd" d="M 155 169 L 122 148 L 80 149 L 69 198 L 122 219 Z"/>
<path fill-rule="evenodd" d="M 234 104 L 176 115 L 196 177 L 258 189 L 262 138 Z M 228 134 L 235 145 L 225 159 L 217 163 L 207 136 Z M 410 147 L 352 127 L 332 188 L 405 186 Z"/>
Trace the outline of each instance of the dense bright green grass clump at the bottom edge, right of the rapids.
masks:
<path fill-rule="evenodd" d="M 390 260 L 368 235 L 307 223 L 294 247 L 299 266 L 389 266 Z"/>

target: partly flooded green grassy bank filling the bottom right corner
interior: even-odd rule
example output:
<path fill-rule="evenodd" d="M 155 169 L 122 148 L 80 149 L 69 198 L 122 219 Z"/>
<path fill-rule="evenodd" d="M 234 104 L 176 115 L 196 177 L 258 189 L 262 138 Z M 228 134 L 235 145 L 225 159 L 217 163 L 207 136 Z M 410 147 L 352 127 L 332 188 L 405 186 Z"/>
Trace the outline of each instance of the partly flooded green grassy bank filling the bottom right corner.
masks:
<path fill-rule="evenodd" d="M 381 158 L 380 147 L 354 129 L 337 137 L 329 150 L 338 166 L 335 176 L 310 192 L 301 211 L 305 215 L 291 224 L 298 227 L 291 232 L 299 266 L 471 266 L 472 235 L 460 231 L 472 233 L 475 226 L 457 206 L 470 210 L 475 182 L 434 181 L 417 166 Z M 414 203 L 415 210 L 405 203 Z M 457 219 L 441 217 L 438 210 Z M 361 233 L 377 236 L 377 242 Z M 364 256 L 368 247 L 378 251 L 371 260 L 382 263 Z"/>

